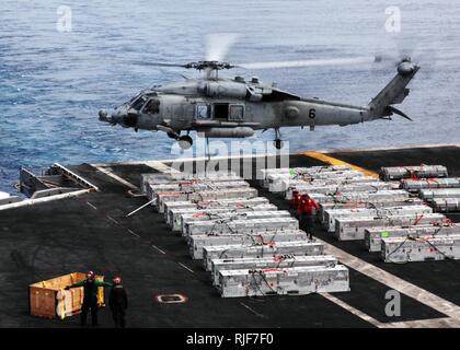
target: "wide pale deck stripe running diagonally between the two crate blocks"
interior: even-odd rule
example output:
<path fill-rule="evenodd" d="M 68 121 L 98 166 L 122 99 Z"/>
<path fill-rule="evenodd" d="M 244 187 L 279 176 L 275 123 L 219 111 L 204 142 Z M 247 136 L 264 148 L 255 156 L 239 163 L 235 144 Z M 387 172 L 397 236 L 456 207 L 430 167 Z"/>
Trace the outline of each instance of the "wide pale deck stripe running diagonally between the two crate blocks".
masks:
<path fill-rule="evenodd" d="M 370 277 L 371 279 L 394 289 L 422 304 L 427 305 L 436 310 L 437 312 L 445 314 L 449 317 L 460 320 L 460 307 L 436 294 L 428 292 L 411 282 L 403 280 L 381 268 L 378 268 L 369 262 L 366 262 L 358 257 L 355 257 L 327 242 L 317 238 L 319 242 L 324 244 L 324 253 L 327 255 L 334 255 L 342 264 L 345 264 L 349 268 Z M 419 323 L 423 323 L 421 320 Z"/>

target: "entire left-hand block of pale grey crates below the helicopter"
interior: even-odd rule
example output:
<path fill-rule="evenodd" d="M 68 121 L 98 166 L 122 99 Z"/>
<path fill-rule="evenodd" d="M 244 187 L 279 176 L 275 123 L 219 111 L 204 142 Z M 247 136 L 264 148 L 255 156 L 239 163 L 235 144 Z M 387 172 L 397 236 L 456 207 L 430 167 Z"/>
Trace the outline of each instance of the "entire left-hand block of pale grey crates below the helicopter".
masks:
<path fill-rule="evenodd" d="M 141 188 L 223 298 L 349 290 L 348 269 L 234 174 L 146 174 Z"/>

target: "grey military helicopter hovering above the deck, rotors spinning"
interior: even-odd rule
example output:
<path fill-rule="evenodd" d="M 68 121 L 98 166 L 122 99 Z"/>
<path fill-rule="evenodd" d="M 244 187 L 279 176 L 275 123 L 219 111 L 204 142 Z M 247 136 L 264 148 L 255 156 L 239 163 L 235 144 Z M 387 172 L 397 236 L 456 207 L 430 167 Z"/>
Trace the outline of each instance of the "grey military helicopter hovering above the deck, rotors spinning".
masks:
<path fill-rule="evenodd" d="M 164 131 L 179 142 L 182 149 L 193 145 L 191 131 L 208 138 L 246 138 L 256 130 L 275 130 L 274 145 L 283 148 L 280 128 L 317 126 L 347 126 L 377 119 L 390 119 L 399 115 L 412 120 L 393 105 L 409 95 L 406 85 L 419 70 L 410 57 L 396 65 L 396 74 L 369 104 L 355 106 L 344 103 L 307 98 L 278 89 L 274 83 L 264 83 L 253 77 L 223 78 L 222 70 L 295 68 L 326 65 L 355 65 L 375 61 L 381 57 L 337 59 L 311 59 L 301 61 L 262 62 L 232 65 L 223 56 L 233 37 L 217 37 L 220 47 L 208 47 L 205 60 L 184 65 L 151 63 L 160 67 L 195 69 L 204 74 L 197 79 L 185 78 L 181 82 L 156 85 L 139 92 L 128 102 L 116 107 L 112 114 L 99 112 L 99 119 L 111 125 L 134 128 L 136 131 Z M 208 40 L 209 42 L 209 40 Z M 223 43 L 223 44 L 222 44 Z M 214 44 L 215 45 L 215 44 Z M 150 65 L 150 63 L 149 63 Z M 182 132 L 186 132 L 182 135 Z"/>

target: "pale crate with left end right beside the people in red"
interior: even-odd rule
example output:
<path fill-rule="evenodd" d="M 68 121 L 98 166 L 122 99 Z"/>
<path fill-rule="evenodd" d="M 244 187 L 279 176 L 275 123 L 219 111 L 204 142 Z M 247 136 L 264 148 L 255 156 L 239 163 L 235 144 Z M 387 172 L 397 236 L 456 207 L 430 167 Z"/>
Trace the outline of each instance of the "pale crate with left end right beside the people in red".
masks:
<path fill-rule="evenodd" d="M 324 228 L 329 232 L 335 231 L 335 219 L 356 217 L 391 217 L 391 215 L 421 215 L 432 213 L 428 206 L 386 207 L 386 208 L 355 208 L 355 209 L 330 209 L 324 211 Z"/>

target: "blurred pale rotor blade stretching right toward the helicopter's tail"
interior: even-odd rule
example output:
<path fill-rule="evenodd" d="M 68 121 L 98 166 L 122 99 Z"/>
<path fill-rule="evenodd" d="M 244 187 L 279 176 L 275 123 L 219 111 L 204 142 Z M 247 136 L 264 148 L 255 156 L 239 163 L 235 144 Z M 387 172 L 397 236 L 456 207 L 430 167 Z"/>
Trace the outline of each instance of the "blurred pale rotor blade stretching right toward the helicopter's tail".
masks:
<path fill-rule="evenodd" d="M 376 56 L 348 57 L 348 58 L 330 58 L 330 59 L 308 59 L 298 61 L 274 61 L 274 62 L 256 62 L 235 65 L 235 67 L 244 69 L 273 69 L 273 68 L 295 68 L 295 67 L 319 67 L 319 66 L 348 66 L 364 65 L 379 61 Z"/>

